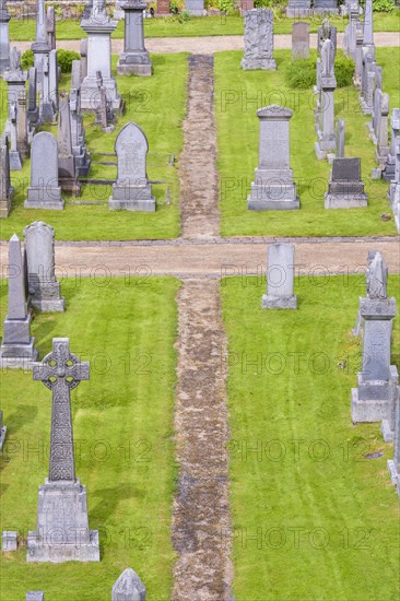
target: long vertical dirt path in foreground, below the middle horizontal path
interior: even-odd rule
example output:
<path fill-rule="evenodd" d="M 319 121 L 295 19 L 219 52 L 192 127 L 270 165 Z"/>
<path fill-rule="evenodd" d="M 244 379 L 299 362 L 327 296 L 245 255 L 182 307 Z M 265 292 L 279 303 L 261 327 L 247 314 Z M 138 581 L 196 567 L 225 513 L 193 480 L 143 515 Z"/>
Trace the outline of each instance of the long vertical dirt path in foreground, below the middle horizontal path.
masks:
<path fill-rule="evenodd" d="M 175 406 L 177 461 L 174 503 L 174 601 L 230 598 L 226 356 L 220 283 L 188 280 L 178 294 L 178 384 Z"/>

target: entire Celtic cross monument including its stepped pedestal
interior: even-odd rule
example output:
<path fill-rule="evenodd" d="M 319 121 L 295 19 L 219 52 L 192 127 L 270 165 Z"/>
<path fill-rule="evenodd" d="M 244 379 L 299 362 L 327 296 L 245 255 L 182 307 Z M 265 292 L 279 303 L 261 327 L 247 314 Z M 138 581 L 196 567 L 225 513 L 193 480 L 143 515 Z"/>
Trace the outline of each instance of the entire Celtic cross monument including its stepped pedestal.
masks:
<path fill-rule="evenodd" d="M 89 363 L 54 338 L 52 352 L 33 367 L 33 379 L 52 392 L 50 464 L 39 486 L 37 528 L 30 531 L 27 562 L 98 562 L 98 531 L 89 529 L 86 487 L 75 478 L 70 391 L 89 380 Z"/>

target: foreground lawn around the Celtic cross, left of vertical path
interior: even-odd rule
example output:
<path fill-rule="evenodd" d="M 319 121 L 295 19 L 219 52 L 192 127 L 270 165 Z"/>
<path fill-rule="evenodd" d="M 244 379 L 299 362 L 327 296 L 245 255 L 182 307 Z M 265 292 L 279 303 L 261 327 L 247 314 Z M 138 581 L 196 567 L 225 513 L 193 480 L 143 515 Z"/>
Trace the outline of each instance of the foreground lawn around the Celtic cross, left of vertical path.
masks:
<path fill-rule="evenodd" d="M 90 527 L 99 530 L 101 563 L 27 564 L 26 549 L 2 554 L 1 598 L 108 601 L 126 567 L 143 578 L 149 601 L 167 601 L 175 487 L 173 406 L 177 315 L 173 279 L 63 280 L 64 314 L 35 317 L 40 358 L 52 337 L 91 362 L 91 379 L 71 394 L 77 476 L 86 485 Z M 116 299 L 118 310 L 116 311 Z M 7 286 L 1 286 L 2 315 Z M 36 528 L 39 484 L 48 474 L 51 393 L 32 372 L 2 374 L 8 426 L 1 458 L 1 530 L 26 538 Z M 35 450 L 36 449 L 36 450 Z"/>

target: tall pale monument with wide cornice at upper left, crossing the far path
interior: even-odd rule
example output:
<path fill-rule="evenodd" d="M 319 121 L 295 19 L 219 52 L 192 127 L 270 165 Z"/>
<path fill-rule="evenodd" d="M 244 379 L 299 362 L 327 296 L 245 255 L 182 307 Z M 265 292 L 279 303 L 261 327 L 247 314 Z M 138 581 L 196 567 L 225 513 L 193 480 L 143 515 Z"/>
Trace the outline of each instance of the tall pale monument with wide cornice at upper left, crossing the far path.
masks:
<path fill-rule="evenodd" d="M 117 92 L 117 83 L 111 73 L 111 33 L 118 25 L 106 13 L 105 0 L 93 0 L 89 19 L 81 22 L 87 34 L 87 74 L 81 85 L 82 110 L 95 110 L 98 101 L 97 72 L 103 75 L 107 97 L 117 111 L 122 111 L 123 103 Z"/>

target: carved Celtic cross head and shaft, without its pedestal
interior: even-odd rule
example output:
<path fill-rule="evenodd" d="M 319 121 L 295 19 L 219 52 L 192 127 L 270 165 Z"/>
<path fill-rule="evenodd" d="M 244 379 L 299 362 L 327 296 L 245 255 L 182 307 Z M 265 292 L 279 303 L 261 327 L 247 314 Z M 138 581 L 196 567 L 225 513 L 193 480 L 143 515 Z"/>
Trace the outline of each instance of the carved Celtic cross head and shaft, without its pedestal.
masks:
<path fill-rule="evenodd" d="M 89 363 L 70 353 L 68 338 L 54 338 L 52 352 L 34 364 L 33 379 L 52 390 L 50 482 L 75 480 L 70 391 L 89 376 Z"/>

